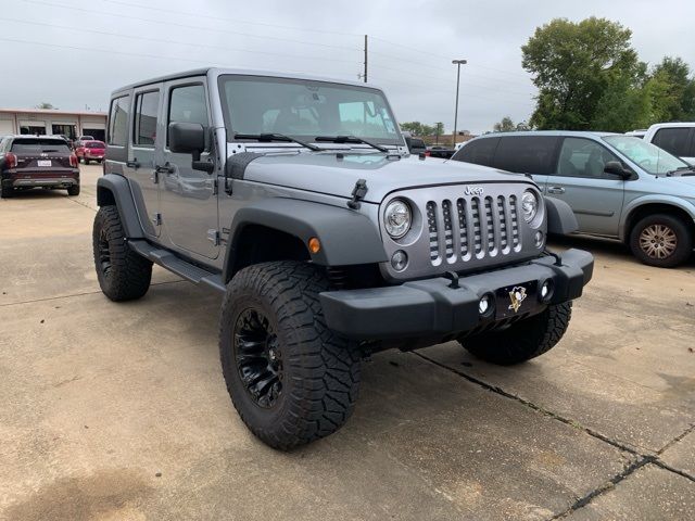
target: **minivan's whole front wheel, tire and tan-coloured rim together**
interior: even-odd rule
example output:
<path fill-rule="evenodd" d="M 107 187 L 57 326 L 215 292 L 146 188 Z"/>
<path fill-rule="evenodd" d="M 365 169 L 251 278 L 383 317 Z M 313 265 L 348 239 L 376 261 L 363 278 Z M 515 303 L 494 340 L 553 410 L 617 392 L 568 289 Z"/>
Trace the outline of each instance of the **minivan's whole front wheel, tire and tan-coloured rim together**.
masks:
<path fill-rule="evenodd" d="M 649 215 L 632 228 L 630 249 L 644 264 L 672 268 L 690 257 L 693 236 L 678 217 L 668 214 Z"/>

